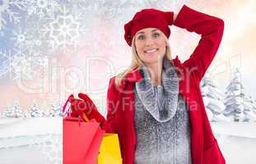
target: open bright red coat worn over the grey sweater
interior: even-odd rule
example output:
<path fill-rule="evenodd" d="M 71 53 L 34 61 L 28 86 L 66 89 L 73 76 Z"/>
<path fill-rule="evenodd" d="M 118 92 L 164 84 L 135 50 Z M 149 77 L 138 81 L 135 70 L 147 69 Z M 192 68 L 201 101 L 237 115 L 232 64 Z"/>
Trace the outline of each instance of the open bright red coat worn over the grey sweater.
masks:
<path fill-rule="evenodd" d="M 199 85 L 221 43 L 224 22 L 215 16 L 194 11 L 184 5 L 179 11 L 174 25 L 202 36 L 197 48 L 187 61 L 181 63 L 178 57 L 173 60 L 179 75 L 179 93 L 189 104 L 192 163 L 226 163 L 212 133 Z M 119 87 L 114 84 L 114 78 L 109 80 L 106 120 L 99 112 L 93 113 L 100 117 L 103 129 L 110 133 L 119 134 L 123 163 L 133 164 L 137 142 L 133 125 L 133 87 L 135 82 L 142 80 L 142 75 L 137 69 L 133 70 L 121 81 Z"/>

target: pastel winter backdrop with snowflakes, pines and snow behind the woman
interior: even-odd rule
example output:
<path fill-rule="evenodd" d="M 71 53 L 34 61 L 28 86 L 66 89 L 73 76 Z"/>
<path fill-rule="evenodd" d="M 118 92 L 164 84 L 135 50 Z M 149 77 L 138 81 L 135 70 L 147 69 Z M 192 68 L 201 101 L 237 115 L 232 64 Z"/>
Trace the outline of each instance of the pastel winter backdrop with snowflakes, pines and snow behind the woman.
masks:
<path fill-rule="evenodd" d="M 0 163 L 63 163 L 67 97 L 86 93 L 106 116 L 109 78 L 131 61 L 124 23 L 143 8 L 184 4 L 225 21 L 202 100 L 226 163 L 255 164 L 253 0 L 0 0 Z M 184 62 L 200 35 L 170 30 L 172 57 Z"/>

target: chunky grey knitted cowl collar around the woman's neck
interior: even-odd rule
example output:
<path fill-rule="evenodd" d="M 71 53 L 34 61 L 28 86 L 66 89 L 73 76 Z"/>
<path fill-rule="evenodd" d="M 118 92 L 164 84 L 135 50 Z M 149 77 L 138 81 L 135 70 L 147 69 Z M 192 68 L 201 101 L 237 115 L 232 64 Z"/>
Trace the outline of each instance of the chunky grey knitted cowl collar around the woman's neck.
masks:
<path fill-rule="evenodd" d="M 147 66 L 142 65 L 139 72 L 143 80 L 135 83 L 138 98 L 148 112 L 156 119 L 156 121 L 169 121 L 173 116 L 178 106 L 179 97 L 179 78 L 175 72 L 175 66 L 170 60 L 164 59 L 161 83 L 164 94 L 161 103 L 159 103 L 153 85 L 151 84 L 151 76 Z"/>

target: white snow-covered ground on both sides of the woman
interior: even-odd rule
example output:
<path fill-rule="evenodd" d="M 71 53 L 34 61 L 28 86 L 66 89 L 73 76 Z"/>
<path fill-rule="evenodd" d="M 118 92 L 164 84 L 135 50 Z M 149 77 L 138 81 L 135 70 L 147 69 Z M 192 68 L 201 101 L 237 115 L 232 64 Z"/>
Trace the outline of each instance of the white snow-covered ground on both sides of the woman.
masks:
<path fill-rule="evenodd" d="M 212 122 L 227 164 L 255 164 L 256 123 Z M 62 118 L 0 119 L 1 164 L 61 164 Z"/>

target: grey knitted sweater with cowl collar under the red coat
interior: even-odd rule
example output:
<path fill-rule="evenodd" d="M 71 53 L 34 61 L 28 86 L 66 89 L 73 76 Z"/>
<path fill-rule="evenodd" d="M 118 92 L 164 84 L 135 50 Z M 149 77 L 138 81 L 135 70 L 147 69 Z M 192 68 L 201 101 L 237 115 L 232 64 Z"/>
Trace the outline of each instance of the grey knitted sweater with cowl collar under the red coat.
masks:
<path fill-rule="evenodd" d="M 190 164 L 188 106 L 179 94 L 179 79 L 164 60 L 162 84 L 153 86 L 147 66 L 135 84 L 134 126 L 137 132 L 135 164 Z"/>

